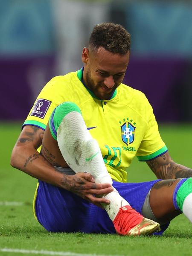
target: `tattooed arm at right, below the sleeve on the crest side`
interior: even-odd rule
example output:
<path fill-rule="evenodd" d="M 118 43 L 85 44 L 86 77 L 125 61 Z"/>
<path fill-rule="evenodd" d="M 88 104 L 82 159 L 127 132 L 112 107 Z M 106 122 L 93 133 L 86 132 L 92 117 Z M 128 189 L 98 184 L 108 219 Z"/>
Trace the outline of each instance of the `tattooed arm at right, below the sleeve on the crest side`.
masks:
<path fill-rule="evenodd" d="M 167 180 L 192 177 L 192 169 L 175 163 L 168 152 L 153 160 L 147 161 L 147 164 L 158 179 Z"/>

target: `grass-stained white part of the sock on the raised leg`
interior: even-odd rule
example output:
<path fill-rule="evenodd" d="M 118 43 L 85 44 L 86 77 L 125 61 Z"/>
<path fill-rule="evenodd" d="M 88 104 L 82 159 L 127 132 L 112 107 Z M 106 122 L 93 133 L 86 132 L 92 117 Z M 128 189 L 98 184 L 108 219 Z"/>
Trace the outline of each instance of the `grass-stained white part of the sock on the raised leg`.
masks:
<path fill-rule="evenodd" d="M 57 141 L 64 160 L 74 172 L 87 172 L 95 178 L 96 183 L 112 184 L 99 145 L 87 131 L 79 112 L 72 111 L 64 116 L 57 130 Z M 116 189 L 105 198 L 110 201 L 104 208 L 112 221 L 120 207 L 129 205 Z"/>

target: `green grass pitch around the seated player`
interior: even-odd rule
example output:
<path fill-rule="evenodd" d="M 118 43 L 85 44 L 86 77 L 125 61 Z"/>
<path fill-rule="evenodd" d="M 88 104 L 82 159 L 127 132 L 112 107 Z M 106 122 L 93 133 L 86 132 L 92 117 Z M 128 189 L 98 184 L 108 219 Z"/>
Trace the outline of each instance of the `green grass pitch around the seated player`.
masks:
<path fill-rule="evenodd" d="M 180 215 L 161 237 L 122 237 L 82 233 L 48 233 L 35 221 L 32 200 L 36 180 L 9 165 L 21 123 L 0 123 L 0 256 L 42 255 L 192 255 L 192 224 Z M 160 134 L 172 158 L 192 167 L 192 125 L 160 125 Z M 155 179 L 146 163 L 135 159 L 128 170 L 130 182 Z M 8 205 L 18 202 L 18 205 Z M 11 249 L 5 252 L 2 249 Z M 13 249 L 29 250 L 30 254 Z M 35 250 L 31 253 L 30 250 Z M 65 254 L 64 254 L 65 252 Z M 69 252 L 68 254 L 66 252 Z"/>

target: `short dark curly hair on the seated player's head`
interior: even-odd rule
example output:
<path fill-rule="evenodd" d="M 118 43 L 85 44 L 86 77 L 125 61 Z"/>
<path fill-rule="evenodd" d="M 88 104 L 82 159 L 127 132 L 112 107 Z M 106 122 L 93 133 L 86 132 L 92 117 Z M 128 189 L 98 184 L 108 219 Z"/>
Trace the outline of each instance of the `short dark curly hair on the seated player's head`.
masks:
<path fill-rule="evenodd" d="M 130 51 L 131 35 L 121 25 L 112 22 L 98 24 L 93 28 L 89 38 L 89 47 L 103 47 L 113 53 L 125 55 Z"/>

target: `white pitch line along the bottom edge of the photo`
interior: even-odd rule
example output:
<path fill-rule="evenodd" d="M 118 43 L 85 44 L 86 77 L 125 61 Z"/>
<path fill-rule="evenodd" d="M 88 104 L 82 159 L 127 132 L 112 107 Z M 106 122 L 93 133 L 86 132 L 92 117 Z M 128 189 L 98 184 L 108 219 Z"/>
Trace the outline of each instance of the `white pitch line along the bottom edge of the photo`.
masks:
<path fill-rule="evenodd" d="M 48 250 L 24 250 L 24 249 L 11 249 L 3 248 L 1 252 L 6 253 L 23 253 L 23 254 L 44 254 L 44 255 L 58 255 L 58 256 L 112 256 L 112 255 L 101 255 L 101 254 L 84 254 L 84 253 L 71 253 L 71 252 L 54 252 Z M 113 255 L 118 256 L 118 255 Z"/>

